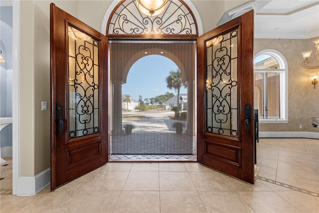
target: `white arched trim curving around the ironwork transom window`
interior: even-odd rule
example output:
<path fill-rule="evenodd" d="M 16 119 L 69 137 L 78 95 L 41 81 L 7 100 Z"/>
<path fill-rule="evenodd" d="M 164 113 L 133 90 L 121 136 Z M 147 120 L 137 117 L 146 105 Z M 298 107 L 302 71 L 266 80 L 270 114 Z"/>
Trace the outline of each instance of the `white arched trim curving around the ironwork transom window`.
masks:
<path fill-rule="evenodd" d="M 103 35 L 106 35 L 106 25 L 108 24 L 109 17 L 111 15 L 113 9 L 116 7 L 116 5 L 119 2 L 120 2 L 120 0 L 113 0 L 104 14 L 102 26 L 101 26 L 101 33 Z M 194 17 L 195 17 L 196 22 L 197 22 L 198 35 L 202 35 L 204 30 L 203 30 L 203 23 L 201 22 L 199 12 L 197 11 L 195 5 L 190 0 L 184 0 L 184 2 L 187 4 L 187 6 L 190 8 L 190 10 L 194 14 Z"/>

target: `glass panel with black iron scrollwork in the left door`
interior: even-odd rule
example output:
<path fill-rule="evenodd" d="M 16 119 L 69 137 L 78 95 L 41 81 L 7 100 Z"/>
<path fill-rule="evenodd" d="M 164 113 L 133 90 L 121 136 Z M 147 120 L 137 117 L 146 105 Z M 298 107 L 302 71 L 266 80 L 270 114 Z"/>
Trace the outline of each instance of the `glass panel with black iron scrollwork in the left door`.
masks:
<path fill-rule="evenodd" d="M 68 26 L 69 139 L 99 133 L 99 41 Z"/>

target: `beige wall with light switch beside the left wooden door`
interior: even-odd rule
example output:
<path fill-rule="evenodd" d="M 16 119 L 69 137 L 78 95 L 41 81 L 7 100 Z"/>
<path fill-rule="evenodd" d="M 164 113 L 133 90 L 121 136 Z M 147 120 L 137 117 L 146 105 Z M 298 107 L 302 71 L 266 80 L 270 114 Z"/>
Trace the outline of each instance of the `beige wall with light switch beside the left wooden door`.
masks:
<path fill-rule="evenodd" d="M 20 1 L 20 173 L 50 167 L 50 3 Z M 53 1 L 54 2 L 54 1 Z M 76 1 L 56 1 L 76 14 Z M 47 111 L 41 111 L 41 101 Z"/>

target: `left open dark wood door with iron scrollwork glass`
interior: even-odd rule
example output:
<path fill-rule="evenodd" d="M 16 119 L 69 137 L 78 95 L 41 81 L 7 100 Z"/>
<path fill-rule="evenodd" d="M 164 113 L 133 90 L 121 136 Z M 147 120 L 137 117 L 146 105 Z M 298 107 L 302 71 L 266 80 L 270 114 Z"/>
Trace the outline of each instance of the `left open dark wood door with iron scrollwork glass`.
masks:
<path fill-rule="evenodd" d="M 108 41 L 54 3 L 50 9 L 51 190 L 55 190 L 108 161 Z"/>

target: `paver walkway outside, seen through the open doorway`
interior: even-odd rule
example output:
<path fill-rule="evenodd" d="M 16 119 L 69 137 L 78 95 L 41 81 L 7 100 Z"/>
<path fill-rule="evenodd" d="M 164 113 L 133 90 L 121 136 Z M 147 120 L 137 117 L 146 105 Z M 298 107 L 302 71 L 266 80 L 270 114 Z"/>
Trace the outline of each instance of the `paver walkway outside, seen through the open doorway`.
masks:
<path fill-rule="evenodd" d="M 177 135 L 171 120 L 171 113 L 149 113 L 144 119 L 123 121 L 133 124 L 130 135 L 112 136 L 112 155 L 192 155 L 193 137 L 186 134 L 186 122 L 183 134 Z"/>

